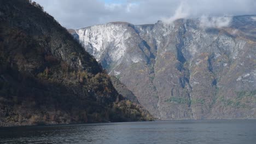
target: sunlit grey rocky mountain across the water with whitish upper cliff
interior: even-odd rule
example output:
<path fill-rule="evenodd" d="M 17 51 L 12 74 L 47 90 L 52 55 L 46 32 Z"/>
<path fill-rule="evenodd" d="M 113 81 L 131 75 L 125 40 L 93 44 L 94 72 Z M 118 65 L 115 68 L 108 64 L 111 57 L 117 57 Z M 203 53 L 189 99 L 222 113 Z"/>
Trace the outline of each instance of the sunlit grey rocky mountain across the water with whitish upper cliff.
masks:
<path fill-rule="evenodd" d="M 256 118 L 256 16 L 75 30 L 85 51 L 161 119 Z"/>

